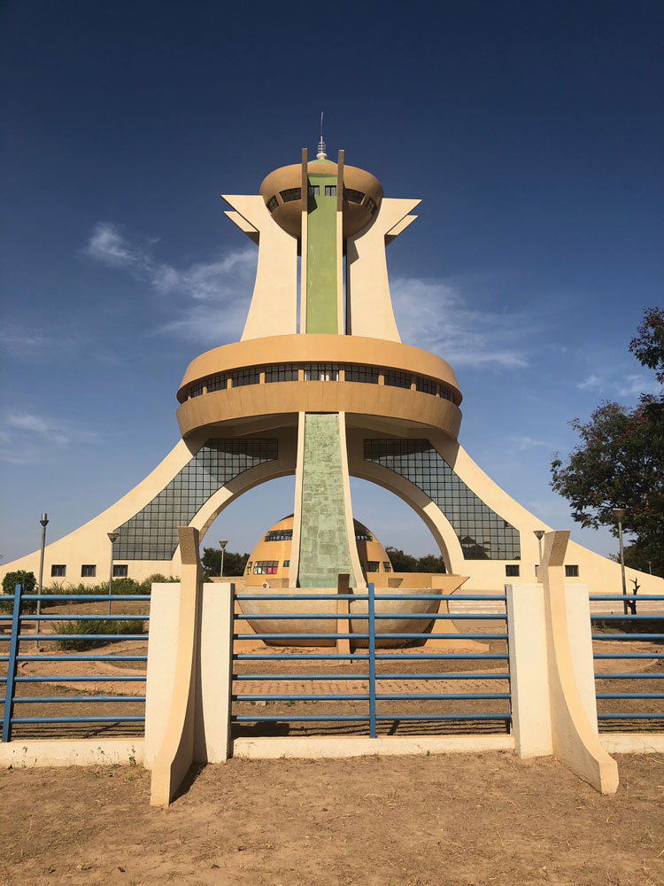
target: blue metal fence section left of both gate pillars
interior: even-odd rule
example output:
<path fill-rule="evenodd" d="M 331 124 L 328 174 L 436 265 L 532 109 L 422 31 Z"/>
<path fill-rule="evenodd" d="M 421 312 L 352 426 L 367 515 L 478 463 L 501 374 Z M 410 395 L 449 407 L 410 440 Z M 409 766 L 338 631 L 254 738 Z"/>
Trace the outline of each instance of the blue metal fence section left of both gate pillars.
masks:
<path fill-rule="evenodd" d="M 12 600 L 11 596 L 4 596 L 4 599 Z M 128 713 L 127 705 L 134 708 L 135 704 L 144 704 L 145 695 L 126 695 L 120 696 L 115 694 L 107 695 L 88 695 L 84 689 L 81 691 L 75 687 L 85 687 L 89 683 L 112 683 L 123 686 L 127 683 L 144 682 L 145 674 L 123 674 L 116 673 L 95 673 L 94 668 L 90 667 L 91 663 L 105 663 L 120 665 L 126 667 L 129 662 L 147 663 L 147 655 L 145 654 L 108 654 L 94 653 L 90 651 L 84 655 L 70 653 L 66 651 L 54 651 L 42 653 L 39 649 L 35 649 L 38 642 L 40 647 L 45 645 L 50 648 L 58 649 L 56 644 L 65 641 L 75 644 L 96 645 L 114 642 L 130 642 L 130 643 L 146 643 L 147 633 L 50 633 L 48 628 L 41 633 L 29 633 L 27 628 L 30 623 L 67 623 L 67 622 L 120 622 L 135 621 L 137 626 L 150 619 L 149 615 L 135 614 L 78 614 L 75 612 L 44 614 L 40 612 L 38 618 L 34 614 L 26 612 L 26 603 L 39 602 L 41 606 L 54 605 L 55 602 L 104 602 L 109 604 L 118 602 L 146 602 L 150 601 L 150 595 L 89 595 L 89 594 L 58 594 L 56 595 L 36 595 L 24 594 L 23 587 L 17 585 L 13 595 L 12 614 L 0 614 L 0 627 L 6 629 L 9 626 L 9 633 L 0 633 L 0 642 L 8 644 L 8 653 L 0 655 L 0 663 L 6 664 L 6 672 L 0 676 L 0 693 L 2 693 L 2 685 L 4 684 L 4 693 L 0 694 L 0 700 L 4 697 L 4 706 L 2 712 L 2 741 L 9 742 L 12 740 L 12 732 L 14 727 L 26 727 L 31 725 L 35 727 L 36 734 L 33 737 L 64 737 L 61 730 L 57 730 L 54 734 L 50 729 L 51 724 L 68 724 L 70 727 L 75 724 L 91 724 L 96 725 L 97 733 L 104 730 L 107 733 L 109 727 L 115 724 L 143 724 L 145 717 L 142 713 Z M 31 608 L 31 607 L 27 607 Z M 36 628 L 36 625 L 35 625 Z M 29 650 L 32 647 L 32 651 Z M 5 647 L 6 648 L 6 647 Z M 0 647 L 4 652 L 4 649 Z M 24 673 L 21 665 L 33 664 L 33 670 L 44 671 L 49 670 L 50 663 L 61 664 L 58 673 L 41 672 L 41 673 Z M 81 663 L 85 663 L 81 666 Z M 39 665 L 46 664 L 47 668 L 40 668 Z M 36 667 L 35 667 L 36 665 Z M 4 668 L 3 668 L 4 670 Z M 87 672 L 86 672 L 87 671 Z M 46 684 L 53 685 L 60 691 L 58 695 L 31 695 L 31 687 L 34 685 Z M 71 710 L 73 704 L 90 705 L 90 710 L 95 711 L 97 705 L 101 705 L 103 713 L 91 712 L 85 715 L 70 715 L 67 711 Z M 37 712 L 31 716 L 15 716 L 15 711 L 28 710 L 35 711 L 57 711 L 44 714 Z M 60 709 L 60 706 L 61 709 Z M 60 713 L 60 710 L 62 711 Z M 100 709 L 101 710 L 101 709 Z M 89 733 L 88 733 L 89 734 Z M 71 731 L 67 737 L 71 735 Z"/>

